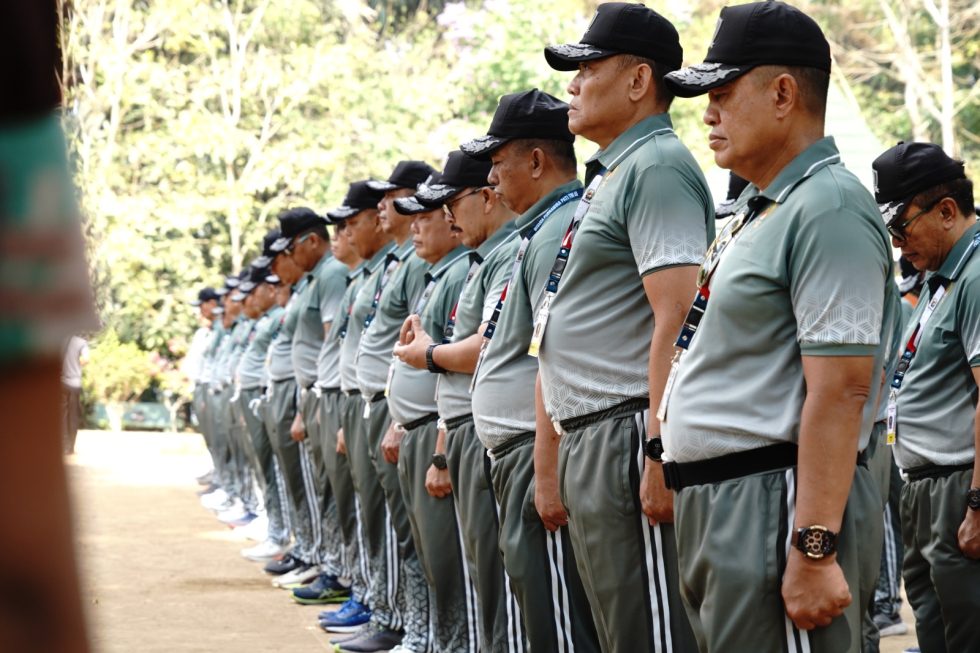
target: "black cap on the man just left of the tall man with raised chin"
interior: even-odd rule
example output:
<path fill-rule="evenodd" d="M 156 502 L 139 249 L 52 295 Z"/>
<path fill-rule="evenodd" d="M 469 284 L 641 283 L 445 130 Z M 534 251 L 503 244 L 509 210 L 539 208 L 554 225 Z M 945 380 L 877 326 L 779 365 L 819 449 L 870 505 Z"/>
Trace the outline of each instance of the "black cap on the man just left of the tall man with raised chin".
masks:
<path fill-rule="evenodd" d="M 489 159 L 508 141 L 519 138 L 574 142 L 575 136 L 568 131 L 568 105 L 536 88 L 505 95 L 487 135 L 467 141 L 459 149 L 468 156 Z"/>

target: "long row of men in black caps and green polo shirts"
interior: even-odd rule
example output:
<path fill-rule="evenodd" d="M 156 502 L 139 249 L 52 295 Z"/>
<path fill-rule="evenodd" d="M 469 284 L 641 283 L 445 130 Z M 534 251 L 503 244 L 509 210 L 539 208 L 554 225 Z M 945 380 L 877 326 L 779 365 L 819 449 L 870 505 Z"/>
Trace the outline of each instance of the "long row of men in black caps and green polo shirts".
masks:
<path fill-rule="evenodd" d="M 202 291 L 216 496 L 257 486 L 268 516 L 246 553 L 294 540 L 267 569 L 347 599 L 340 651 L 860 651 L 894 451 L 922 650 L 980 650 L 962 163 L 899 144 L 873 198 L 823 132 L 827 41 L 783 3 L 723 9 L 689 68 L 627 3 L 545 56 L 569 104 L 505 95 L 441 171 L 284 212 L 222 308 Z M 749 182 L 717 238 L 668 114 L 705 93 Z M 907 326 L 892 244 L 933 273 Z"/>

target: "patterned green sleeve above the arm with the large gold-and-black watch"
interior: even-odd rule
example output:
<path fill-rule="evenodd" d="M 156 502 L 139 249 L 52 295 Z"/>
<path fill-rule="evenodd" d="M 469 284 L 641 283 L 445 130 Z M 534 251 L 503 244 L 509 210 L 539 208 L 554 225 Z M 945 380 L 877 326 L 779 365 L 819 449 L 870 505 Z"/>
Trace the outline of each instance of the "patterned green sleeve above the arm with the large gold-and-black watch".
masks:
<path fill-rule="evenodd" d="M 872 220 L 835 209 L 799 221 L 787 272 L 803 354 L 874 354 L 891 280 L 890 253 Z"/>

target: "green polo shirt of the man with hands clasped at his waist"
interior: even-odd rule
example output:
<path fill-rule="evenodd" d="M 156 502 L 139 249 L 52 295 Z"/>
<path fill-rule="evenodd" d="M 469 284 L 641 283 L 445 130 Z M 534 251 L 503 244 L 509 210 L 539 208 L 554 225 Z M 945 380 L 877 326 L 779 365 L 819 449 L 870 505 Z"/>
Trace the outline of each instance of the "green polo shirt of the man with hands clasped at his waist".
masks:
<path fill-rule="evenodd" d="M 481 324 L 490 319 L 510 277 L 519 244 L 517 228 L 511 221 L 493 232 L 476 251 L 470 252 L 470 272 L 466 275 L 463 291 L 456 304 L 456 324 L 450 342 L 469 338 L 477 332 Z M 476 268 L 475 262 L 479 262 Z M 438 338 L 436 342 L 439 342 Z M 472 374 L 446 372 L 439 375 L 436 387 L 439 417 L 453 419 L 473 412 L 470 403 L 472 381 Z"/>

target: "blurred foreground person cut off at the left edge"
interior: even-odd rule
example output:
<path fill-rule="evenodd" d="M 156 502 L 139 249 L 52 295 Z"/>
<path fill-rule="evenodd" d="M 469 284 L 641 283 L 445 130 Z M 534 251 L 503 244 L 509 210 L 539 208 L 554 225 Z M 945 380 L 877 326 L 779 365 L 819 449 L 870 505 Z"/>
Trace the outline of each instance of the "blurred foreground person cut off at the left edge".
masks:
<path fill-rule="evenodd" d="M 57 9 L 2 13 L 0 651 L 87 651 L 59 406 L 62 343 L 97 324 L 58 115 Z"/>

